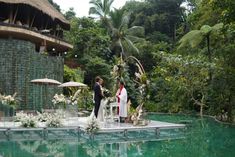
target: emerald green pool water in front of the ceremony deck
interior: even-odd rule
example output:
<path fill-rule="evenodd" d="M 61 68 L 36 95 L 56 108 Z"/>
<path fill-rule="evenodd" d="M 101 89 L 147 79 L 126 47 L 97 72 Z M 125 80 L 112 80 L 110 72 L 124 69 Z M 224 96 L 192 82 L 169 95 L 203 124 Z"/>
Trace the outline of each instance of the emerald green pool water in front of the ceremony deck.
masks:
<path fill-rule="evenodd" d="M 94 140 L 73 131 L 0 133 L 0 157 L 234 157 L 235 127 L 213 119 L 148 115 L 151 120 L 189 122 L 183 130 L 101 134 Z"/>

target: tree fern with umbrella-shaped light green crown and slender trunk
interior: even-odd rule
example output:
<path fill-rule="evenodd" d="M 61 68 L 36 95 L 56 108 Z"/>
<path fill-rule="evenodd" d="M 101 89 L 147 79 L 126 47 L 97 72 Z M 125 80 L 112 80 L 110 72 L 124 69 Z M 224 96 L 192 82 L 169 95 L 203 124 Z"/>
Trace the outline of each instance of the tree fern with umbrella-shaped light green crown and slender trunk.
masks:
<path fill-rule="evenodd" d="M 192 30 L 185 34 L 179 41 L 180 45 L 178 49 L 184 48 L 187 45 L 189 45 L 192 48 L 195 48 L 198 46 L 202 41 L 206 40 L 207 45 L 207 55 L 208 60 L 211 63 L 212 62 L 212 53 L 211 53 L 211 46 L 210 41 L 213 35 L 221 31 L 223 28 L 223 23 L 218 23 L 214 25 L 213 27 L 209 25 L 203 25 L 200 30 Z M 212 73 L 211 70 L 209 72 L 209 80 L 212 80 Z"/>

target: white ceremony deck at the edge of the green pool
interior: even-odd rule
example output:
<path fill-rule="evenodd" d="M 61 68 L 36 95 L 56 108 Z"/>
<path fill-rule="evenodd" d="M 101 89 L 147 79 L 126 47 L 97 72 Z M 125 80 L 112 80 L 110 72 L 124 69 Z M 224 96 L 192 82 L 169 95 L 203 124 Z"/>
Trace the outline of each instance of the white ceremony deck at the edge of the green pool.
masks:
<path fill-rule="evenodd" d="M 40 130 L 77 130 L 85 131 L 88 117 L 70 117 L 62 120 L 63 127 L 48 128 L 44 123 L 39 123 L 36 128 L 22 128 L 19 122 L 0 122 L 0 132 L 6 131 L 40 131 Z M 100 129 L 98 133 L 112 133 L 112 132 L 127 132 L 127 131 L 141 131 L 141 130 L 156 130 L 159 132 L 162 129 L 177 129 L 185 128 L 184 124 L 167 123 L 161 121 L 151 120 L 146 126 L 134 126 L 130 123 L 118 122 L 100 122 Z"/>

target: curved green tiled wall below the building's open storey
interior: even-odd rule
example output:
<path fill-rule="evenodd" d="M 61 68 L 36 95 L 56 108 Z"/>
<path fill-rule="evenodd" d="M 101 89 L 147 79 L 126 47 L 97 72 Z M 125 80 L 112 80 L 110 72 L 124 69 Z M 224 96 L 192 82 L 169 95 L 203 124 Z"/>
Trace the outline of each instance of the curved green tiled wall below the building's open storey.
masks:
<path fill-rule="evenodd" d="M 17 92 L 19 109 L 52 108 L 52 97 L 62 89 L 30 81 L 47 77 L 63 82 L 63 65 L 63 58 L 39 54 L 31 42 L 0 39 L 0 93 Z"/>

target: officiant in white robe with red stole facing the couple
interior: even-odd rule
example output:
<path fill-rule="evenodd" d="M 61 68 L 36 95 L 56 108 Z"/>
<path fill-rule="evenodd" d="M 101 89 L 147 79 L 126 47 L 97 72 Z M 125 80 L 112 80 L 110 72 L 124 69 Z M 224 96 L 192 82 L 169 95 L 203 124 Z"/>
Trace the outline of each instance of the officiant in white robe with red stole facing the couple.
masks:
<path fill-rule="evenodd" d="M 118 115 L 120 122 L 124 123 L 127 118 L 127 91 L 124 87 L 124 81 L 119 81 L 119 89 L 116 93 L 117 103 L 118 103 Z"/>

